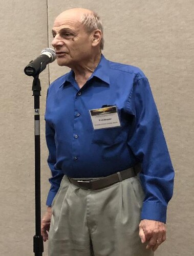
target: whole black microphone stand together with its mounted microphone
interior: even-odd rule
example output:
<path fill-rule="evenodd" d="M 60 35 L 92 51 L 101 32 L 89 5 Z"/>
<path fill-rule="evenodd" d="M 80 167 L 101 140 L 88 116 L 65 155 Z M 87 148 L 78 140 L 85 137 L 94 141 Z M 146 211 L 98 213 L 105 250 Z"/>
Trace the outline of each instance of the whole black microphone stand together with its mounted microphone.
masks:
<path fill-rule="evenodd" d="M 55 51 L 46 48 L 35 60 L 31 60 L 25 67 L 24 73 L 33 76 L 32 91 L 34 96 L 34 142 L 35 142 L 35 236 L 33 251 L 35 256 L 42 256 L 44 252 L 43 237 L 41 236 L 41 201 L 40 201 L 40 80 L 39 74 L 46 69 L 48 63 L 55 60 Z"/>

